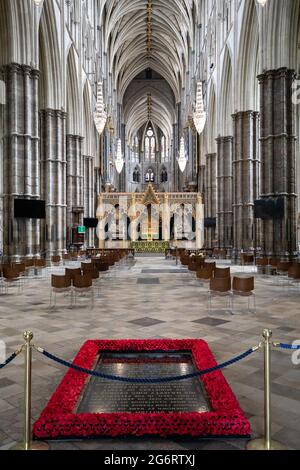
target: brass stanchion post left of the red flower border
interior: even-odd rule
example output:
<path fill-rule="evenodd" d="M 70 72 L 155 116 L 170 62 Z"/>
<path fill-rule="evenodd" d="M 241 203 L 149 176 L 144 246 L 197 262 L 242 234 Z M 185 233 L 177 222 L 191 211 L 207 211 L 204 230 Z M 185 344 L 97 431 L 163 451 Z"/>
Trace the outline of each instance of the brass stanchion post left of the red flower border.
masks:
<path fill-rule="evenodd" d="M 24 440 L 16 444 L 11 450 L 49 450 L 49 444 L 41 441 L 32 441 L 31 429 L 31 385 L 32 385 L 32 344 L 33 333 L 25 331 L 25 400 L 24 400 Z"/>

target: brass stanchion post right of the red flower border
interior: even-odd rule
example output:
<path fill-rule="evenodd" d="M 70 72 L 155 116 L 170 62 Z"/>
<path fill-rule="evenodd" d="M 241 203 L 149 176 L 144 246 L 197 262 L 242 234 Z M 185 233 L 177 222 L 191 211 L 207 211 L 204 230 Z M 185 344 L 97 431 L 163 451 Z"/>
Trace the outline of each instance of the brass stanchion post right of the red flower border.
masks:
<path fill-rule="evenodd" d="M 272 331 L 263 331 L 264 344 L 264 421 L 265 436 L 248 442 L 247 450 L 286 450 L 280 442 L 272 440 L 272 418 L 271 418 L 271 347 Z"/>

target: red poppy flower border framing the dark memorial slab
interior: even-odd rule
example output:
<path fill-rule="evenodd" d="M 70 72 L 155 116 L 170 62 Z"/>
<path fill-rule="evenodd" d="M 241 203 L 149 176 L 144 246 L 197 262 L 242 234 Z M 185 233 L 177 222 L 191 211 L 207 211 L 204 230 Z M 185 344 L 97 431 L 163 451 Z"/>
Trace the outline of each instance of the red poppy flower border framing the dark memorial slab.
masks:
<path fill-rule="evenodd" d="M 74 364 L 92 369 L 101 351 L 190 351 L 197 369 L 216 361 L 202 340 L 87 341 Z M 248 437 L 249 421 L 220 371 L 201 377 L 211 410 L 206 413 L 81 413 L 74 410 L 88 375 L 70 369 L 33 427 L 37 439 L 117 436 Z"/>

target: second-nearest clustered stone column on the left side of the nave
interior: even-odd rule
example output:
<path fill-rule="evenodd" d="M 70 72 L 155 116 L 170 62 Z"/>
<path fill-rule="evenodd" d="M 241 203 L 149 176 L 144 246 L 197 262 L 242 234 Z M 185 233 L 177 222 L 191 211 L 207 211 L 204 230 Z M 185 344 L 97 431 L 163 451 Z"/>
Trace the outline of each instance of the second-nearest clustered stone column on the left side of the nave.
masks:
<path fill-rule="evenodd" d="M 41 181 L 46 201 L 44 250 L 48 256 L 66 251 L 66 113 L 56 109 L 40 112 Z"/>

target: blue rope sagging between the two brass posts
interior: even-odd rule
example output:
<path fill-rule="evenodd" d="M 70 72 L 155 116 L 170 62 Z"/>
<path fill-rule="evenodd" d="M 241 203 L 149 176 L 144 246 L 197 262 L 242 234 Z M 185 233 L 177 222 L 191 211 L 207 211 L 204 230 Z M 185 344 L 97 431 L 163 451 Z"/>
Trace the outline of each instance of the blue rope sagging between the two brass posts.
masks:
<path fill-rule="evenodd" d="M 143 384 L 143 383 L 159 384 L 159 383 L 166 383 L 166 382 L 179 382 L 181 380 L 193 379 L 195 377 L 200 377 L 206 374 L 210 374 L 212 372 L 216 372 L 217 370 L 224 369 L 225 367 L 231 366 L 235 364 L 236 362 L 242 361 L 246 357 L 253 354 L 256 351 L 256 349 L 255 348 L 248 349 L 243 354 L 240 354 L 239 356 L 234 357 L 233 359 L 230 359 L 229 361 L 226 361 L 223 364 L 210 367 L 209 369 L 199 370 L 197 372 L 194 372 L 192 374 L 187 374 L 187 375 L 178 375 L 175 377 L 159 377 L 159 378 L 133 378 L 133 377 L 119 377 L 115 375 L 102 374 L 100 372 L 95 372 L 93 370 L 89 370 L 89 369 L 85 369 L 84 367 L 77 366 L 75 364 L 72 364 L 71 362 L 64 361 L 63 359 L 60 359 L 59 357 L 54 356 L 53 354 L 50 354 L 49 352 L 45 350 L 38 349 L 38 351 L 41 352 L 44 356 L 46 356 L 48 359 L 51 359 L 52 361 L 57 362 L 58 364 L 62 366 L 69 367 L 70 369 L 73 369 L 77 372 L 82 372 L 84 374 L 88 374 L 93 377 L 98 377 L 101 379 L 111 380 L 115 382 L 127 382 L 127 383 L 136 383 L 136 384 Z"/>

